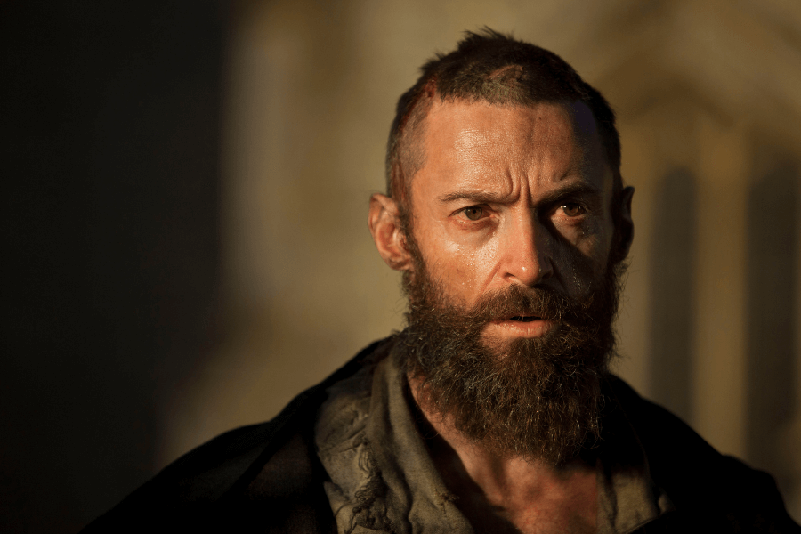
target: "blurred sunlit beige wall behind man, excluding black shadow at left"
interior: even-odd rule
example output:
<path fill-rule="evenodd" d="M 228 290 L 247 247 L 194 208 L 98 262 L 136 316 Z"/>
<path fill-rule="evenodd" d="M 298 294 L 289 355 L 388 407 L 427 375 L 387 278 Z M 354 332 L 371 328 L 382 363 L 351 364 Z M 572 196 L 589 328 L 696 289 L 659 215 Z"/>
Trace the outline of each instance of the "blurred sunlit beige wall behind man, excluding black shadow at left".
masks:
<path fill-rule="evenodd" d="M 559 53 L 618 111 L 637 190 L 618 372 L 779 475 L 798 517 L 797 5 L 240 3 L 224 103 L 225 335 L 170 399 L 162 464 L 272 417 L 402 328 L 400 280 L 366 224 L 394 102 L 433 52 L 486 25 Z"/>

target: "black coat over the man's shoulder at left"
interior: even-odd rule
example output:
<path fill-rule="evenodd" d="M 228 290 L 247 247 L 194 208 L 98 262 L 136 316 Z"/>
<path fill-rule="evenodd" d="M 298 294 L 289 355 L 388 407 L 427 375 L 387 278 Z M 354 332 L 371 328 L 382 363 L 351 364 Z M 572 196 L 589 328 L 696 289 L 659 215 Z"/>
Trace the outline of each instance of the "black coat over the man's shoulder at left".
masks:
<path fill-rule="evenodd" d="M 212 524 L 228 526 L 218 523 L 228 522 L 232 513 L 247 516 L 247 508 L 253 506 L 272 515 L 271 524 L 282 512 L 296 517 L 299 508 L 317 514 L 313 502 L 321 489 L 313 481 L 322 475 L 312 444 L 316 411 L 331 384 L 352 376 L 364 360 L 391 342 L 390 337 L 368 345 L 323 382 L 298 394 L 270 421 L 231 430 L 190 450 L 84 531 L 133 531 L 134 525 L 140 530 L 163 513 L 184 530 L 192 524 L 205 531 Z"/>

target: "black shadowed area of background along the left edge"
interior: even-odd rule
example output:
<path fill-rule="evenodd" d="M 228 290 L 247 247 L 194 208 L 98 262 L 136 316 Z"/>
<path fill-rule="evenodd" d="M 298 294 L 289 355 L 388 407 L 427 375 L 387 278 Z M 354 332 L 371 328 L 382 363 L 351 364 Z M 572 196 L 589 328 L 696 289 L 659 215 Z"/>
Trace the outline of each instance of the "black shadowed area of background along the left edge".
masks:
<path fill-rule="evenodd" d="M 0 530 L 76 531 L 159 465 L 218 333 L 214 2 L 0 4 Z"/>

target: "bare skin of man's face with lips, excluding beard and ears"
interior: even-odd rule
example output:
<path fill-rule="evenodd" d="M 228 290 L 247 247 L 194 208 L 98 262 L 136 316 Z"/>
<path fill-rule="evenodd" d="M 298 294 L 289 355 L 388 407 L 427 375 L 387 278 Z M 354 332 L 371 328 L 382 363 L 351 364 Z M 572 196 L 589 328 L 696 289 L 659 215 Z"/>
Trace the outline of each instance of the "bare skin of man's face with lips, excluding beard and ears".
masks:
<path fill-rule="evenodd" d="M 412 232 L 444 298 L 470 309 L 510 286 L 576 299 L 595 289 L 614 234 L 612 174 L 584 104 L 438 101 L 424 144 L 425 165 L 411 183 Z M 555 327 L 552 317 L 509 311 L 481 339 L 502 350 Z"/>

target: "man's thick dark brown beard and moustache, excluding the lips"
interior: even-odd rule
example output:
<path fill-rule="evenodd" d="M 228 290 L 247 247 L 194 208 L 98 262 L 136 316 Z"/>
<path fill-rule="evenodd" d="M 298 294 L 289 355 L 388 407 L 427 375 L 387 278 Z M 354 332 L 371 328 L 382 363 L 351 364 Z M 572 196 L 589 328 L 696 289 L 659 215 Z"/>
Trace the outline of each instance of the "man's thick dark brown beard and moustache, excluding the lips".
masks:
<path fill-rule="evenodd" d="M 409 312 L 402 363 L 423 379 L 426 406 L 502 455 L 558 466 L 592 448 L 600 437 L 601 383 L 614 352 L 625 265 L 607 265 L 582 299 L 512 285 L 465 309 L 449 302 L 419 252 L 413 255 L 415 274 L 403 279 Z M 538 338 L 486 346 L 486 324 L 510 315 L 554 320 L 556 327 Z"/>

